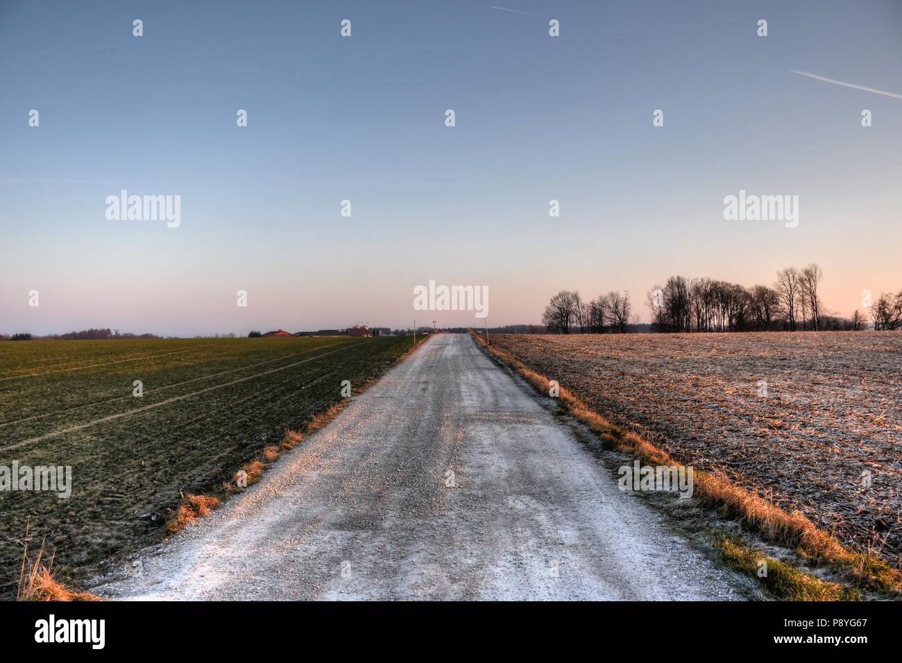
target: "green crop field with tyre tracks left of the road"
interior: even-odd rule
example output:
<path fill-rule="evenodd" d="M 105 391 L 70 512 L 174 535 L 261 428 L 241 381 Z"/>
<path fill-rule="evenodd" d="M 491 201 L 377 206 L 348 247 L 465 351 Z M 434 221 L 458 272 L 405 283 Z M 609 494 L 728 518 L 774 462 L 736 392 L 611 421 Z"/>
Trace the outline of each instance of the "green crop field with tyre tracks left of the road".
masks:
<path fill-rule="evenodd" d="M 410 349 L 410 337 L 0 344 L 0 465 L 71 465 L 72 495 L 0 491 L 0 597 L 28 531 L 78 577 L 160 540 L 181 494 L 216 489 Z M 133 396 L 133 382 L 143 396 Z M 155 518 L 154 518 L 155 517 Z"/>

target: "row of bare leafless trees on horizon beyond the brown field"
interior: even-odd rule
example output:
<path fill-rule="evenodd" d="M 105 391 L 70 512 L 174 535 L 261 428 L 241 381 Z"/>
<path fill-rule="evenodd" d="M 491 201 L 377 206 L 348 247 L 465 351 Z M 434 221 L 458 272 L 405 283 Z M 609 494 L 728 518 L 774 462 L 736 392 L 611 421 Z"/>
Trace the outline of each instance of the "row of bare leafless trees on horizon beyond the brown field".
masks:
<path fill-rule="evenodd" d="M 671 276 L 646 294 L 651 330 L 656 332 L 859 331 L 868 316 L 856 310 L 841 318 L 824 308 L 820 286 L 824 271 L 812 262 L 777 272 L 770 285 L 746 288 L 709 278 Z M 561 290 L 548 302 L 542 323 L 561 334 L 623 333 L 630 325 L 630 295 L 611 291 L 584 301 L 578 291 Z M 883 293 L 870 304 L 877 330 L 902 329 L 902 290 Z"/>

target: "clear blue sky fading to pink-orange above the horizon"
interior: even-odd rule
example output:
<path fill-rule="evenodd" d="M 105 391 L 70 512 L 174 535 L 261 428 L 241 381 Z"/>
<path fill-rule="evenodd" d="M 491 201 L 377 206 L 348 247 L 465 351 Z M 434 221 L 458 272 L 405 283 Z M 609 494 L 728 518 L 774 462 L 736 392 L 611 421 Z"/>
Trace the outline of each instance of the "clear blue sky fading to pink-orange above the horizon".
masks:
<path fill-rule="evenodd" d="M 415 311 L 429 280 L 490 326 L 565 288 L 647 319 L 668 275 L 807 262 L 849 315 L 902 289 L 902 98 L 790 70 L 902 94 L 900 35 L 897 0 L 2 0 L 0 332 L 474 322 Z M 120 189 L 180 226 L 107 220 Z M 739 189 L 799 225 L 725 221 Z"/>

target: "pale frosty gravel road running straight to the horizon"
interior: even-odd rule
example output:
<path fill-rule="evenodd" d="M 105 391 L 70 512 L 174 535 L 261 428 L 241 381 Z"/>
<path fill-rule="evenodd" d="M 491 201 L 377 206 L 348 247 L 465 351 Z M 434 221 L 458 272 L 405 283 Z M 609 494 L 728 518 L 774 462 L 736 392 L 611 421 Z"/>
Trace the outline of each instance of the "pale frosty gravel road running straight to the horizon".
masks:
<path fill-rule="evenodd" d="M 161 600 L 741 597 L 728 572 L 621 493 L 543 399 L 455 334 L 429 339 L 259 483 L 94 591 Z"/>

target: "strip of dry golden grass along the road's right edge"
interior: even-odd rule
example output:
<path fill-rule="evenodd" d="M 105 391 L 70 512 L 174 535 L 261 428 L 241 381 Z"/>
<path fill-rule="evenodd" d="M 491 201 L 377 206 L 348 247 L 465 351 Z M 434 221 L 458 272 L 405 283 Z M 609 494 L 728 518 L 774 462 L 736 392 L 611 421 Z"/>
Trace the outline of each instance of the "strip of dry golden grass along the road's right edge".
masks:
<path fill-rule="evenodd" d="M 491 339 L 487 342 L 480 333 L 471 333 L 485 352 L 520 374 L 536 391 L 548 396 L 551 384 L 548 377 L 529 368 L 510 353 L 492 346 Z M 648 440 L 605 419 L 571 391 L 564 387 L 558 390 L 555 399 L 558 408 L 590 428 L 604 447 L 638 458 L 643 465 L 680 465 Z M 804 514 L 798 511 L 788 513 L 760 495 L 737 486 L 725 476 L 697 471 L 694 474 L 695 497 L 723 518 L 740 521 L 769 542 L 795 548 L 796 553 L 808 561 L 832 566 L 854 585 L 893 598 L 902 597 L 902 573 L 876 555 L 844 548 Z M 791 582 L 787 574 L 782 577 L 785 583 Z"/>

